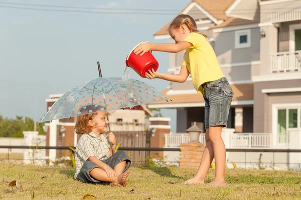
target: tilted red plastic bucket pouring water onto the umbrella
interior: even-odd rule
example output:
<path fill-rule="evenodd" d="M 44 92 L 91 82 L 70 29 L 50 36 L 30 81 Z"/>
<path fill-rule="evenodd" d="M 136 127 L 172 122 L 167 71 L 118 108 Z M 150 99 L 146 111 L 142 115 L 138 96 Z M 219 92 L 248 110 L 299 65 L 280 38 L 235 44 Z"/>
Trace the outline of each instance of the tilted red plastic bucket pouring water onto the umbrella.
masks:
<path fill-rule="evenodd" d="M 142 42 L 144 43 L 144 42 Z M 139 43 L 140 44 L 140 43 Z M 139 54 L 135 54 L 133 50 L 139 45 L 137 44 L 127 55 L 125 64 L 128 67 L 131 67 L 138 73 L 141 77 L 145 78 L 145 72 L 148 70 L 152 70 L 152 68 L 157 71 L 159 67 L 159 63 L 151 52 L 146 52 L 142 56 Z"/>

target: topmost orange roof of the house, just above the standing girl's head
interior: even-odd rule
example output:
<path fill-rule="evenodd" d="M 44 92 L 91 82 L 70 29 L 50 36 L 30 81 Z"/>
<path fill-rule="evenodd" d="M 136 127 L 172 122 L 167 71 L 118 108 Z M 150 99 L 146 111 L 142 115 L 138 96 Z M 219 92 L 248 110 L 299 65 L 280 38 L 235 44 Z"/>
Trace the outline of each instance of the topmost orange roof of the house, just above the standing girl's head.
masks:
<path fill-rule="evenodd" d="M 227 15 L 225 12 L 235 2 L 235 0 L 192 0 L 184 7 L 184 9 L 182 9 L 180 13 L 182 13 L 192 2 L 198 3 L 217 20 L 226 20 Z M 168 27 L 170 23 L 171 21 L 164 25 L 154 35 L 169 34 Z"/>

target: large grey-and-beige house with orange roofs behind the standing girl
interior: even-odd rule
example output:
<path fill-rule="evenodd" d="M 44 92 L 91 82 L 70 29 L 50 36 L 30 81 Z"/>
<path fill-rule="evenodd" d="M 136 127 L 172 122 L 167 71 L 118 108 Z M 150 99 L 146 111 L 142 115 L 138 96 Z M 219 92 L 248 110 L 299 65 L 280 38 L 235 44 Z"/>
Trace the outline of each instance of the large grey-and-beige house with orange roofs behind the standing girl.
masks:
<path fill-rule="evenodd" d="M 235 118 L 241 112 L 241 132 L 286 135 L 291 128 L 301 128 L 300 0 L 192 0 L 181 13 L 191 15 L 209 36 L 235 92 L 228 128 L 239 125 Z M 169 24 L 154 34 L 156 39 L 174 42 Z M 169 73 L 180 72 L 183 54 L 170 53 Z M 148 107 L 176 107 L 177 132 L 185 132 L 192 121 L 204 122 L 205 102 L 191 77 L 169 85 L 163 93 L 173 103 Z"/>

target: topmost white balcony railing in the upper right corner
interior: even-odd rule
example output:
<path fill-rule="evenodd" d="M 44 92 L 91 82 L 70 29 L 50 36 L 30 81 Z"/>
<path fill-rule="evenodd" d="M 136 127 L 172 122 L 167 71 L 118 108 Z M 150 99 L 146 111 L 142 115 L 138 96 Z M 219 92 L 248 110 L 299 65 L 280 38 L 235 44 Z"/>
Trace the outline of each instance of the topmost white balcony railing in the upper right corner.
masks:
<path fill-rule="evenodd" d="M 294 21 L 301 19 L 301 9 L 291 10 L 287 12 L 272 12 L 271 22 L 278 23 L 284 21 Z"/>

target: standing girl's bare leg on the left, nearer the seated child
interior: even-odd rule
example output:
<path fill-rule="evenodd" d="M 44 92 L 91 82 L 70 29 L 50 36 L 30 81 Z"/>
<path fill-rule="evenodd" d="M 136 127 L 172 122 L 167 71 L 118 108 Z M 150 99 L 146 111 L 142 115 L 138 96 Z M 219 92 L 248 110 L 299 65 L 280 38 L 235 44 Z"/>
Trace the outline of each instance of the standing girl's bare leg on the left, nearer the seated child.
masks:
<path fill-rule="evenodd" d="M 184 182 L 185 184 L 187 184 L 187 183 L 204 183 L 205 182 L 206 174 L 207 174 L 208 169 L 211 165 L 211 162 L 214 158 L 213 145 L 209 139 L 209 128 L 206 129 L 205 139 L 206 139 L 206 146 L 205 146 L 205 149 L 203 152 L 203 156 L 202 156 L 198 171 L 194 177 L 186 180 Z"/>

